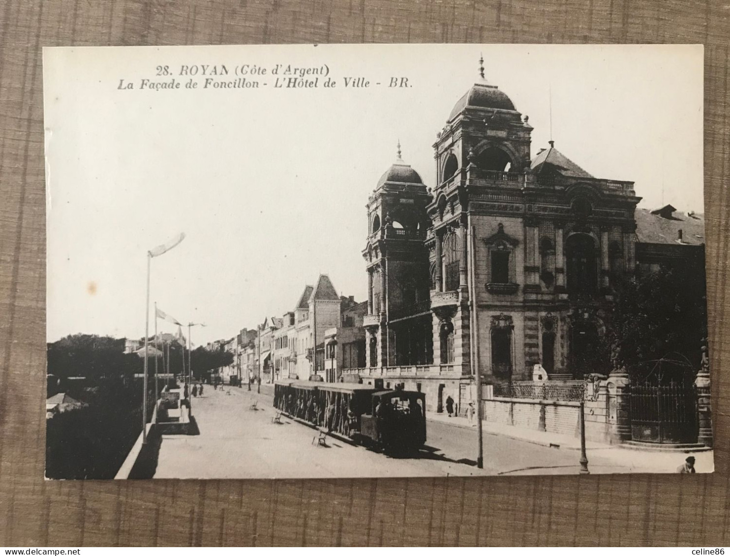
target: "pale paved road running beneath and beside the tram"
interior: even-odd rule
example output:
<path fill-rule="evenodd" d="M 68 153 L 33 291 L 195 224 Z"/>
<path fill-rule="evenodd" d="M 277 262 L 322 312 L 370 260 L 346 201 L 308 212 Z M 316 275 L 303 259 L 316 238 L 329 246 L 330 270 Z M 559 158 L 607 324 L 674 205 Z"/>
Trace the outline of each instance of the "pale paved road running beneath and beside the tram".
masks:
<path fill-rule="evenodd" d="M 250 404 L 258 400 L 258 411 Z M 205 388 L 193 398 L 198 436 L 164 436 L 156 478 L 333 478 L 445 476 L 503 473 L 577 473 L 579 453 L 538 446 L 504 436 L 484 436 L 484 469 L 475 466 L 476 430 L 429 421 L 426 449 L 419 457 L 387 457 L 329 438 L 312 444 L 316 431 L 283 418 L 271 422 L 272 398 L 245 388 Z M 541 469 L 533 469 L 539 467 Z M 593 458 L 591 471 L 624 471 Z"/>

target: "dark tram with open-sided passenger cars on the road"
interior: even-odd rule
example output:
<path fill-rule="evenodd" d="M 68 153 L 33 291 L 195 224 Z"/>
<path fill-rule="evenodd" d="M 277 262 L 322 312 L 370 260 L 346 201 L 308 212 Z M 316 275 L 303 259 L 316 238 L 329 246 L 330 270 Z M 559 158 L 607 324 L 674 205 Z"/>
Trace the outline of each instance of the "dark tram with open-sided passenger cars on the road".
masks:
<path fill-rule="evenodd" d="M 274 382 L 274 407 L 385 452 L 426 443 L 426 395 L 411 390 L 307 380 Z"/>

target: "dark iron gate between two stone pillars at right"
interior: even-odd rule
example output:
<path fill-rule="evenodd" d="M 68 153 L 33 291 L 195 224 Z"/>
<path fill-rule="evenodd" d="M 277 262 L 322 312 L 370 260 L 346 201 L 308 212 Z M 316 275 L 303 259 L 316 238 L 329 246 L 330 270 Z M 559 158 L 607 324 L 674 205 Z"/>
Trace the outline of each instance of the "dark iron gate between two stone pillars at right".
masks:
<path fill-rule="evenodd" d="M 638 382 L 631 385 L 631 439 L 658 444 L 697 441 L 694 382 Z"/>

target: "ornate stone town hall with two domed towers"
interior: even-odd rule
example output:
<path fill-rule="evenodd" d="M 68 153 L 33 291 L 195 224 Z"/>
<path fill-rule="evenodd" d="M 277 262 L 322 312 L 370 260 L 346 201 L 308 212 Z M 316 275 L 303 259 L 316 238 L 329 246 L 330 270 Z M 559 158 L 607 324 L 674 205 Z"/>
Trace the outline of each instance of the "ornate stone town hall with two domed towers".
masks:
<path fill-rule="evenodd" d="M 429 409 L 468 397 L 473 363 L 485 382 L 593 371 L 614 280 L 637 263 L 633 182 L 552 141 L 531 158 L 528 117 L 480 75 L 437 134 L 434 189 L 399 145 L 367 204 L 361 374 L 423 390 Z"/>

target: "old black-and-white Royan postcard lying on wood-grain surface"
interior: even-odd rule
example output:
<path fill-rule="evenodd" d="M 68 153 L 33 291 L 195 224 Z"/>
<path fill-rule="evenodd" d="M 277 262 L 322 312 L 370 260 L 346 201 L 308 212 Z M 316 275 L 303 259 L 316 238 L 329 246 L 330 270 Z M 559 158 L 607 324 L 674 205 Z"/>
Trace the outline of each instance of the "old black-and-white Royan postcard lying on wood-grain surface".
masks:
<path fill-rule="evenodd" d="M 703 59 L 45 48 L 46 479 L 712 472 Z"/>

